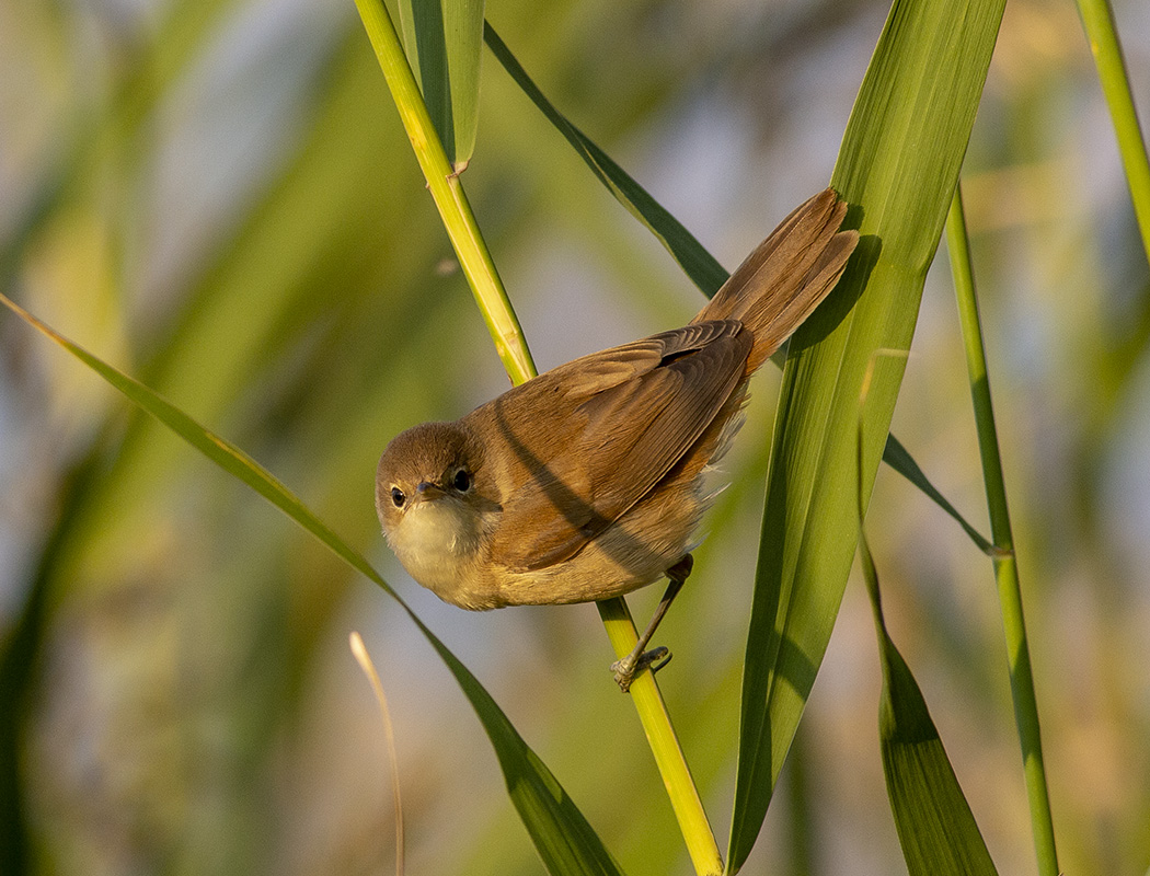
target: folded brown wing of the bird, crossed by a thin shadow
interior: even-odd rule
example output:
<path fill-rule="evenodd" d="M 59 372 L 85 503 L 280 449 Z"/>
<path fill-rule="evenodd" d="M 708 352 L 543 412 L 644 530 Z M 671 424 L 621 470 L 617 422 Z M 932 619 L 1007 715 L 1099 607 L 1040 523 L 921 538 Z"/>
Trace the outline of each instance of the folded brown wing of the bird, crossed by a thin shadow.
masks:
<path fill-rule="evenodd" d="M 622 516 L 710 425 L 752 343 L 738 322 L 693 323 L 575 360 L 475 412 L 523 463 L 492 553 L 544 568 Z"/>

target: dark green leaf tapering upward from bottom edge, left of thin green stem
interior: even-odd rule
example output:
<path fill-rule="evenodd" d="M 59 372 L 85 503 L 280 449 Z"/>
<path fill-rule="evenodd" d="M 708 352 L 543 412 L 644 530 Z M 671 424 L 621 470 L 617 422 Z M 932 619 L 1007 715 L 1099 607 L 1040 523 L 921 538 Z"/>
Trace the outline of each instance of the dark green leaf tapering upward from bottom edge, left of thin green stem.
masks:
<path fill-rule="evenodd" d="M 879 704 L 882 769 L 906 868 L 911 876 L 996 874 L 922 692 L 887 632 L 879 575 L 861 531 L 859 554 L 874 609 L 882 664 Z"/>

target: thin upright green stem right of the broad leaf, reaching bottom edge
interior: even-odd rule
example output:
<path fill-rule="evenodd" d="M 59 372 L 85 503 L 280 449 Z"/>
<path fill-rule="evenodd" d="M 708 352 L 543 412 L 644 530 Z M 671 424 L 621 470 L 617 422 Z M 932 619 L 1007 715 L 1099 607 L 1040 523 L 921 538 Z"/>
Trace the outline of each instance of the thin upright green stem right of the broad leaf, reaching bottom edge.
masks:
<path fill-rule="evenodd" d="M 958 299 L 963 340 L 966 347 L 966 367 L 974 400 L 974 421 L 979 431 L 979 453 L 982 456 L 982 476 L 986 482 L 987 506 L 990 510 L 990 530 L 995 543 L 992 553 L 998 601 L 1002 607 L 1003 628 L 1006 633 L 1006 661 L 1010 667 L 1011 697 L 1014 700 L 1014 721 L 1022 746 L 1022 771 L 1030 806 L 1030 828 L 1037 852 L 1041 876 L 1058 876 L 1058 855 L 1055 850 L 1055 825 L 1050 815 L 1050 796 L 1046 771 L 1042 759 L 1042 735 L 1038 728 L 1038 704 L 1034 692 L 1030 669 L 1030 650 L 1026 638 L 1022 615 L 1022 591 L 1014 555 L 1010 512 L 1006 507 L 1006 486 L 1003 479 L 1002 456 L 998 451 L 998 431 L 990 402 L 990 383 L 987 378 L 987 353 L 982 340 L 982 322 L 974 291 L 974 270 L 966 237 L 961 190 L 954 190 L 950 214 L 946 217 L 946 246 L 950 251 L 954 294 Z"/>

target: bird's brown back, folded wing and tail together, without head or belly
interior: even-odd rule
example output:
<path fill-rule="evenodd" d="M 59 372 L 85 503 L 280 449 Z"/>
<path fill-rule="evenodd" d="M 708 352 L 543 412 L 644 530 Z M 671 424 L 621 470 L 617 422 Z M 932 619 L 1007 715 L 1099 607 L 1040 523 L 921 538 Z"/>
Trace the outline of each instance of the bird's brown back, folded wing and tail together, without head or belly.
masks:
<path fill-rule="evenodd" d="M 568 362 L 461 421 L 501 508 L 491 554 L 538 569 L 578 552 L 729 440 L 750 375 L 834 287 L 858 239 L 830 189 L 796 209 L 687 326 Z"/>

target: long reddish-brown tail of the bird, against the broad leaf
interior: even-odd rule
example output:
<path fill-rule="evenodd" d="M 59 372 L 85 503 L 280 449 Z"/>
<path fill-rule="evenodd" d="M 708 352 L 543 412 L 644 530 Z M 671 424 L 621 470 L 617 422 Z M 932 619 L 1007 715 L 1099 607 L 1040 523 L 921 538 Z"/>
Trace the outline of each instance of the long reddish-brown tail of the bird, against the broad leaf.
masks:
<path fill-rule="evenodd" d="M 858 244 L 839 231 L 846 203 L 834 189 L 819 192 L 782 221 L 730 275 L 692 322 L 739 320 L 754 333 L 750 374 L 811 315 L 842 276 Z"/>

